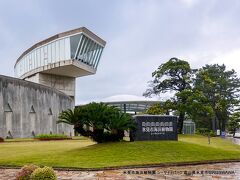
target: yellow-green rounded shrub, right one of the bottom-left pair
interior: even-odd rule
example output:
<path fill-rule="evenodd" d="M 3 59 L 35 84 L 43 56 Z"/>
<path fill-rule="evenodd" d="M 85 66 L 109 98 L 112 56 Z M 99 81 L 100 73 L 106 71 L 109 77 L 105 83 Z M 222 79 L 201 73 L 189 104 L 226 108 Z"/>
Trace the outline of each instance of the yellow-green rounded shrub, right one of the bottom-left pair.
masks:
<path fill-rule="evenodd" d="M 31 180 L 57 180 L 57 176 L 51 167 L 37 168 L 31 174 Z"/>

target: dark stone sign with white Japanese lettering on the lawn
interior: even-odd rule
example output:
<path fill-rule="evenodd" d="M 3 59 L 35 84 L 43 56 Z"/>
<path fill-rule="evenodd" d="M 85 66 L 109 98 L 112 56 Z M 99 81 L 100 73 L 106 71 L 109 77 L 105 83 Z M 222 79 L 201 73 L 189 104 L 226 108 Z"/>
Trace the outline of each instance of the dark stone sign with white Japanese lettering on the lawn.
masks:
<path fill-rule="evenodd" d="M 178 140 L 177 116 L 136 115 L 135 141 Z"/>

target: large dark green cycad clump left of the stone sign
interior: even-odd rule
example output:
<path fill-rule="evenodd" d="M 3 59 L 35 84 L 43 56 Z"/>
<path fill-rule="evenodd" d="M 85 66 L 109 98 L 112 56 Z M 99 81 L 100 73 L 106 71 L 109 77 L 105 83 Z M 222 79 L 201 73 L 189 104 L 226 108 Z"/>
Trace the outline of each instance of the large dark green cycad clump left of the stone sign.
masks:
<path fill-rule="evenodd" d="M 63 111 L 58 123 L 74 125 L 75 131 L 98 143 L 120 141 L 124 130 L 135 128 L 130 115 L 104 103 L 89 103 L 74 110 Z"/>

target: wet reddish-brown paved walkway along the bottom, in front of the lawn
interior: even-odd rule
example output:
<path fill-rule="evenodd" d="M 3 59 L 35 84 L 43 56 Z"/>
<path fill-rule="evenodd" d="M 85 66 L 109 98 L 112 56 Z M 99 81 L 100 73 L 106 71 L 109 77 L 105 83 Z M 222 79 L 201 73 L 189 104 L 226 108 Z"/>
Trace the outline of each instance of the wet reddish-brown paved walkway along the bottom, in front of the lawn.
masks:
<path fill-rule="evenodd" d="M 17 169 L 0 169 L 0 180 L 13 180 Z M 106 171 L 56 171 L 59 180 L 92 179 L 236 179 L 240 180 L 240 163 L 219 163 L 194 166 L 135 168 Z"/>

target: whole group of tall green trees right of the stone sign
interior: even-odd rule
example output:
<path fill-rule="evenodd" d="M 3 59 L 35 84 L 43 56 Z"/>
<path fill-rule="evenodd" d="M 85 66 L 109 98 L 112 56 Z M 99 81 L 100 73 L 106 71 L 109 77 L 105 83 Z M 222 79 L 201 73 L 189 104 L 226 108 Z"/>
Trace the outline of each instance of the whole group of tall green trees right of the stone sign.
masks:
<path fill-rule="evenodd" d="M 179 133 L 186 116 L 201 128 L 225 131 L 229 117 L 239 106 L 240 79 L 234 70 L 227 70 L 225 65 L 192 69 L 187 61 L 171 58 L 161 64 L 152 76 L 144 96 L 163 97 L 164 93 L 173 93 L 167 99 L 168 109 L 175 110 L 179 115 Z M 149 112 L 154 109 L 162 113 L 166 106 L 154 108 Z"/>

